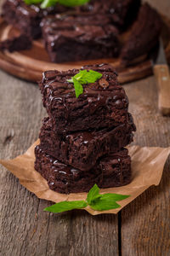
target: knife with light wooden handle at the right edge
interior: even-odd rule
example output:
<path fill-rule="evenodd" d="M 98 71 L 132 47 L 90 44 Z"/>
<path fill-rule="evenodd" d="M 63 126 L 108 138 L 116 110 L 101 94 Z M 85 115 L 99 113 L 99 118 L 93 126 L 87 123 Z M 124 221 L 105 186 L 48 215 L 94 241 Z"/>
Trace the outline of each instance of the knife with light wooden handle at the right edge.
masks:
<path fill-rule="evenodd" d="M 170 115 L 170 75 L 161 38 L 157 55 L 152 57 L 152 65 L 158 88 L 158 109 L 162 115 Z"/>

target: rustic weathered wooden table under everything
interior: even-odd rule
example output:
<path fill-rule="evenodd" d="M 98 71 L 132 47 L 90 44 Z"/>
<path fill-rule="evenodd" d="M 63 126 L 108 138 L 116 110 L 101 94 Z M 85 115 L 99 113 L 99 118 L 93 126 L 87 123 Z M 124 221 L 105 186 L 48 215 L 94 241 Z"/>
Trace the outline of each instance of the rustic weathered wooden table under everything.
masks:
<path fill-rule="evenodd" d="M 1 1 L 1 0 L 0 0 Z M 170 14 L 169 0 L 150 0 Z M 38 137 L 42 108 L 36 84 L 0 71 L 0 158 L 14 158 Z M 125 85 L 138 131 L 134 144 L 170 145 L 170 118 L 157 112 L 154 77 Z M 2 256 L 169 256 L 170 159 L 161 184 L 148 189 L 117 215 L 43 212 L 37 199 L 0 166 L 0 255 Z"/>

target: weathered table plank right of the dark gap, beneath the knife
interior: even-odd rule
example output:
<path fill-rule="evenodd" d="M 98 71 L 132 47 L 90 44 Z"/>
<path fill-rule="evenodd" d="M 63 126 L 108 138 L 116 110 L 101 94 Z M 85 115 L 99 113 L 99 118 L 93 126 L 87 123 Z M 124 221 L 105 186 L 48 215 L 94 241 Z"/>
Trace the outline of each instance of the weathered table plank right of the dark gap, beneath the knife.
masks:
<path fill-rule="evenodd" d="M 169 146 L 170 118 L 158 113 L 155 79 L 129 84 L 126 90 L 138 129 L 134 143 Z M 148 189 L 122 210 L 122 256 L 170 255 L 169 163 L 161 184 Z"/>

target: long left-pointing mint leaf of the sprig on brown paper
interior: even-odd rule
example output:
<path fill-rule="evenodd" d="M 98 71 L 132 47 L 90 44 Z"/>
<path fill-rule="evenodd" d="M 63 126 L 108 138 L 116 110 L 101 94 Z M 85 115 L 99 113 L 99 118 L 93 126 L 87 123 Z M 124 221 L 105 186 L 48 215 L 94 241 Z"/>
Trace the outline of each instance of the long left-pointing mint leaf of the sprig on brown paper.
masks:
<path fill-rule="evenodd" d="M 88 207 L 88 203 L 86 201 L 60 201 L 51 207 L 43 209 L 43 211 L 57 213 L 71 211 L 73 209 L 82 209 L 85 207 Z"/>

